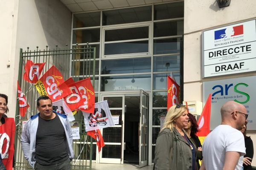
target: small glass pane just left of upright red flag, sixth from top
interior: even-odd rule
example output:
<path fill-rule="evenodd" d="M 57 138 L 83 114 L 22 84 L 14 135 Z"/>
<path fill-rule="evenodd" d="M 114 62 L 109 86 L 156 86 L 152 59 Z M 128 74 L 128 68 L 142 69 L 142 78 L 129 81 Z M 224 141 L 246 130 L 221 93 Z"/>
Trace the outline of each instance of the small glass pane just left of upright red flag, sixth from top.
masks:
<path fill-rule="evenodd" d="M 167 107 L 167 91 L 153 92 L 153 107 Z"/>

